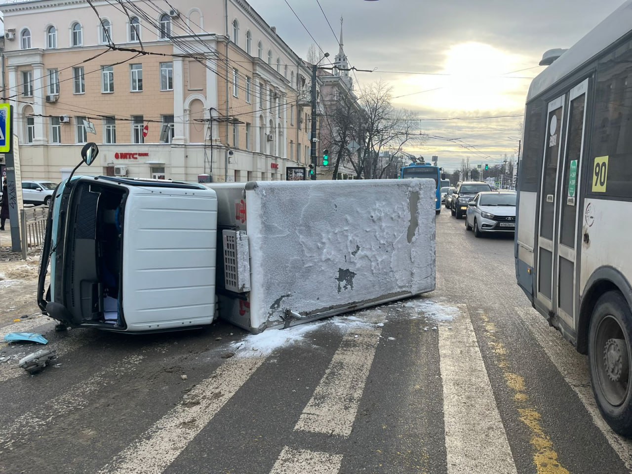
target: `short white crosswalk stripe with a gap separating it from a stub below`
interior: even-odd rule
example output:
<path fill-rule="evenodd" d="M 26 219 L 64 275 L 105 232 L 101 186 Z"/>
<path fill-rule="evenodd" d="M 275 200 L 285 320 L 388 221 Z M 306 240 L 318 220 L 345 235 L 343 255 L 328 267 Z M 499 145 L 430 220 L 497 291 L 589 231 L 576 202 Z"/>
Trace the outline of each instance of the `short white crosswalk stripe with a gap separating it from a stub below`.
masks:
<path fill-rule="evenodd" d="M 339 436 L 351 434 L 380 332 L 379 327 L 352 329 L 344 335 L 295 430 Z"/>

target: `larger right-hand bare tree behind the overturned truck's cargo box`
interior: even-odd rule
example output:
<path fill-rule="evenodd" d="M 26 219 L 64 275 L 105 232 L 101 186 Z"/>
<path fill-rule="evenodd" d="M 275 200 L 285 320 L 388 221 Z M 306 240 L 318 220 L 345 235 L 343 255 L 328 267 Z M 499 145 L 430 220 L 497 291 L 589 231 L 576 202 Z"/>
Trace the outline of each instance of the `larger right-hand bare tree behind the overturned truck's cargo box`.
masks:
<path fill-rule="evenodd" d="M 381 81 L 364 87 L 358 103 L 362 112 L 353 135 L 361 146 L 358 155 L 350 156 L 349 161 L 358 178 L 384 178 L 404 145 L 422 142 L 415 114 L 393 107 L 391 87 Z M 389 153 L 383 154 L 386 151 Z"/>

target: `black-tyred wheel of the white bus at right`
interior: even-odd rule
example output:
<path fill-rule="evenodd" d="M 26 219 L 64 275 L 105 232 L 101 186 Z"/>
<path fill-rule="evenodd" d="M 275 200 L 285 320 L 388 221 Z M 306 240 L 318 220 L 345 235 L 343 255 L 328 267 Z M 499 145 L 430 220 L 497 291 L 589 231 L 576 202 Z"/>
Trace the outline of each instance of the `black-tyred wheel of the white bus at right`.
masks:
<path fill-rule="evenodd" d="M 597 406 L 616 433 L 632 436 L 632 313 L 618 291 L 602 295 L 588 330 L 590 382 Z"/>

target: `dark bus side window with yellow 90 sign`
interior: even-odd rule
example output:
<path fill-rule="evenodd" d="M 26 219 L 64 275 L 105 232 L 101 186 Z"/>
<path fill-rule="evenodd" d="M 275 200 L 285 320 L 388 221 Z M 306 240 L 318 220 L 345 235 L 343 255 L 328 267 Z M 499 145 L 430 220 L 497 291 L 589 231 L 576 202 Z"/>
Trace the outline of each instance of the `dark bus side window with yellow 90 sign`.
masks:
<path fill-rule="evenodd" d="M 586 191 L 593 197 L 632 198 L 631 44 L 606 56 L 597 70 L 590 182 L 586 183 Z"/>

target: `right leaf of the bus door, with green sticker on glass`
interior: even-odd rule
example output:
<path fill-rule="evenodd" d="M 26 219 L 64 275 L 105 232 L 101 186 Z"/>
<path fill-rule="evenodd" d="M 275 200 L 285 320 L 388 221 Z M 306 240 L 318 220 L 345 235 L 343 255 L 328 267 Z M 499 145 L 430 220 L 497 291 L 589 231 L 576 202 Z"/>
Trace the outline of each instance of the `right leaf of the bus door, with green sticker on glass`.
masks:
<path fill-rule="evenodd" d="M 584 152 L 588 79 L 571 89 L 568 97 L 566 140 L 562 161 L 560 190 L 557 197 L 557 313 L 566 324 L 575 328 L 576 250 L 578 240 L 578 207 L 580 204 L 580 169 Z"/>

